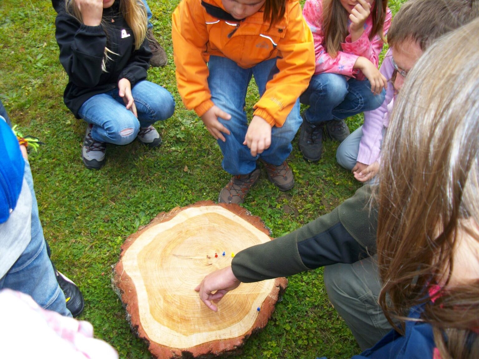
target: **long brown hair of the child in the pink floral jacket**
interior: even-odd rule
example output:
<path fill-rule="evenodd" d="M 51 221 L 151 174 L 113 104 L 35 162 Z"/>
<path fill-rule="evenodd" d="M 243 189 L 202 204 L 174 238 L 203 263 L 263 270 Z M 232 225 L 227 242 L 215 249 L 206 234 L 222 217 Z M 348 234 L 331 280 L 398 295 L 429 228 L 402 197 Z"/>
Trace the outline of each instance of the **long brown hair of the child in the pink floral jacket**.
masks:
<path fill-rule="evenodd" d="M 341 50 L 341 43 L 344 42 L 348 32 L 348 11 L 341 5 L 340 0 L 323 0 L 322 31 L 324 34 L 323 46 L 332 57 L 336 57 Z M 388 0 L 376 0 L 371 9 L 373 29 L 369 39 L 379 35 L 386 42 L 383 34 L 384 20 L 386 19 L 386 8 Z"/>

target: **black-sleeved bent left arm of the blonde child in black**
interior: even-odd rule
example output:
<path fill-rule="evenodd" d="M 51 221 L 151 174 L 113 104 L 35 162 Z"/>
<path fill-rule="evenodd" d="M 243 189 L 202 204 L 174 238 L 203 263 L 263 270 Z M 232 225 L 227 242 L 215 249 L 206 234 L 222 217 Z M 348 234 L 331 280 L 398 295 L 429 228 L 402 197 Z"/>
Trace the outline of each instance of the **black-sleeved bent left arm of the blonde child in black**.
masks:
<path fill-rule="evenodd" d="M 55 37 L 60 48 L 60 63 L 69 79 L 80 87 L 94 87 L 102 75 L 106 35 L 100 25 L 78 22 L 65 11 L 55 21 Z"/>

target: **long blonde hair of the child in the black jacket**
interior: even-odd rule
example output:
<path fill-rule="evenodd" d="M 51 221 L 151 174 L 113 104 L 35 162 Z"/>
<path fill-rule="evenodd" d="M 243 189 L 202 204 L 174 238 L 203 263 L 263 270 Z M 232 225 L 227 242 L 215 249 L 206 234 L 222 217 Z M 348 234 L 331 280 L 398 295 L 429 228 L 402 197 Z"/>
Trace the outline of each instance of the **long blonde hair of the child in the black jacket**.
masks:
<path fill-rule="evenodd" d="M 138 50 L 143 41 L 145 41 L 147 35 L 147 11 L 142 2 L 137 0 L 116 0 L 120 1 L 120 12 L 125 19 L 128 26 L 133 32 L 133 37 L 135 38 L 135 50 Z M 83 17 L 81 16 L 81 11 L 76 6 L 75 0 L 67 0 L 65 2 L 66 11 L 73 17 L 75 17 L 79 22 L 83 22 Z M 108 26 L 106 22 L 102 20 L 102 27 L 105 28 Z M 105 33 L 107 33 L 105 31 Z M 105 47 L 104 56 L 103 56 L 103 71 L 106 71 L 106 61 L 110 59 L 109 54 L 113 54 L 112 51 Z"/>

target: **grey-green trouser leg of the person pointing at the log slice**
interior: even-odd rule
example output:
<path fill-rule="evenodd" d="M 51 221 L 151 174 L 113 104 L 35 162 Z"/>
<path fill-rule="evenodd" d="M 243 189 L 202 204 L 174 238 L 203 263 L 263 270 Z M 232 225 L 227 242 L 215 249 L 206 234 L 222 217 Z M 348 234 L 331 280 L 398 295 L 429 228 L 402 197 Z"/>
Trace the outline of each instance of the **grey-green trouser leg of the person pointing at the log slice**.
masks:
<path fill-rule="evenodd" d="M 324 285 L 362 350 L 371 348 L 391 330 L 377 302 L 382 284 L 376 256 L 324 267 Z"/>

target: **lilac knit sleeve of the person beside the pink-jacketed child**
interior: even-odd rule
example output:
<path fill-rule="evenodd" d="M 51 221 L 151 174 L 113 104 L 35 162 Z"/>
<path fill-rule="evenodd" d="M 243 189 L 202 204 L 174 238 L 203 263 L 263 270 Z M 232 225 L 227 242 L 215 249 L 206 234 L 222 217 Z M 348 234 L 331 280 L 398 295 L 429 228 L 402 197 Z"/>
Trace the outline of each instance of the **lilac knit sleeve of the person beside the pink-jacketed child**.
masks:
<path fill-rule="evenodd" d="M 394 67 L 391 62 L 392 54 L 389 49 L 384 56 L 383 63 L 379 71 L 388 79 L 391 79 L 394 73 Z M 376 110 L 364 112 L 363 136 L 359 143 L 359 152 L 357 161 L 370 165 L 378 160 L 381 151 L 381 140 L 383 138 L 383 127 L 388 127 L 389 112 L 388 105 L 393 100 L 394 88 L 391 82 L 388 82 L 386 98 L 381 106 Z"/>

